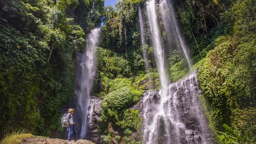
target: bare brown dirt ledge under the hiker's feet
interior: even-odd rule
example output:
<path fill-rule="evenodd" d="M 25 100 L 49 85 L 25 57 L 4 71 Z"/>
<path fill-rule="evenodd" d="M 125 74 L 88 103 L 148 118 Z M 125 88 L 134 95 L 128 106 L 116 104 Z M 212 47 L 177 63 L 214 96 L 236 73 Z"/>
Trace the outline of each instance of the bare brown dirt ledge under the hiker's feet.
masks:
<path fill-rule="evenodd" d="M 27 139 L 21 139 L 22 144 L 94 144 L 88 140 L 79 139 L 76 142 L 72 140 L 68 142 L 68 140 L 63 139 L 50 139 L 44 137 L 30 137 Z"/>

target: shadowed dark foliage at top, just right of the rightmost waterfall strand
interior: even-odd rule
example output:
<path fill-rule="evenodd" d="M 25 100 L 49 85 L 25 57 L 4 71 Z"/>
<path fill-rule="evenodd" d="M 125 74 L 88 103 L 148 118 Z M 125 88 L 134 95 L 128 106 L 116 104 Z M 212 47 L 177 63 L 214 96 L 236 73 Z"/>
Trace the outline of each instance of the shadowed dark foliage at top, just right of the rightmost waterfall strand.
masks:
<path fill-rule="evenodd" d="M 219 2 L 219 3 L 218 3 Z M 195 35 L 206 34 L 219 22 L 219 13 L 224 12 L 230 4 L 230 0 L 173 0 L 177 11 L 180 28 L 187 39 L 192 39 L 192 31 Z M 190 26 L 189 26 L 190 24 Z"/>

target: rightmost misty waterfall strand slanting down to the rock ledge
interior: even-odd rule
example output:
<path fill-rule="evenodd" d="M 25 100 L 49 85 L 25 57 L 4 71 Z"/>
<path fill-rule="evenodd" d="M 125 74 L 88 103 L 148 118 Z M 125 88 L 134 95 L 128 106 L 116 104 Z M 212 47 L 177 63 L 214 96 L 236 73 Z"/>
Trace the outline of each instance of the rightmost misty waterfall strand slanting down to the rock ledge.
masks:
<path fill-rule="evenodd" d="M 164 29 L 166 31 L 166 37 L 167 37 L 168 42 L 172 41 L 171 38 L 173 38 L 174 40 L 178 40 L 179 45 L 182 48 L 182 51 L 187 60 L 187 64 L 190 68 L 190 71 L 192 71 L 189 54 L 187 52 L 187 46 L 186 46 L 185 41 L 180 33 L 180 28 L 179 28 L 178 22 L 175 18 L 175 12 L 174 12 L 174 8 L 173 8 L 173 4 L 172 4 L 171 0 L 161 0 L 159 7 L 160 7 L 161 15 L 162 15 L 162 20 L 164 22 Z M 169 46 L 170 45 L 171 44 L 169 44 Z"/>

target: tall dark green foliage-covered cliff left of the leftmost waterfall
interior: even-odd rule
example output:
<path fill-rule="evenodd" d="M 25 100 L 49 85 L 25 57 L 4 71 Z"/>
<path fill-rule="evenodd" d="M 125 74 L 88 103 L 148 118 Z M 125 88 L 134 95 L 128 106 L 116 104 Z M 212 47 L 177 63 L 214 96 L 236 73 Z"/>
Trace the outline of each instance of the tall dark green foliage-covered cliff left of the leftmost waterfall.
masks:
<path fill-rule="evenodd" d="M 50 135 L 73 92 L 72 58 L 85 33 L 45 0 L 0 5 L 0 137 L 20 127 Z"/>

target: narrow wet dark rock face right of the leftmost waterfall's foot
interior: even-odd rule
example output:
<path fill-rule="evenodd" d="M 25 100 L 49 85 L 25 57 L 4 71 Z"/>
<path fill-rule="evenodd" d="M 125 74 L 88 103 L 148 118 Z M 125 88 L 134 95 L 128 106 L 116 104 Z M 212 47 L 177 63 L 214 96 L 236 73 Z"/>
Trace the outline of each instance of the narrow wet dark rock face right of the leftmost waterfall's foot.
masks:
<path fill-rule="evenodd" d="M 96 143 L 104 144 L 103 139 L 100 135 L 100 132 L 97 129 L 100 120 L 100 109 L 103 99 L 91 96 L 90 97 L 90 106 L 88 111 L 88 130 L 86 139 Z"/>

